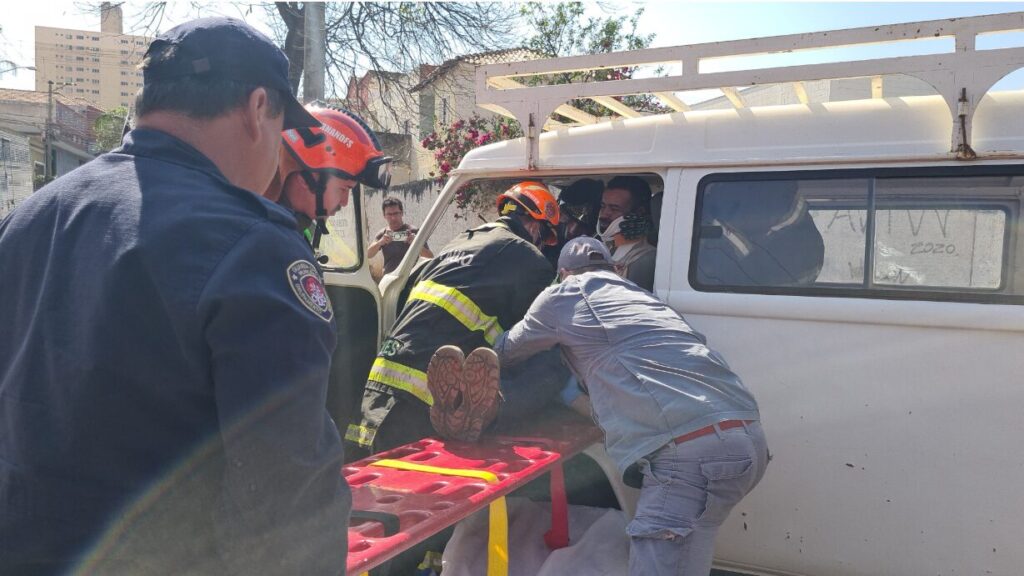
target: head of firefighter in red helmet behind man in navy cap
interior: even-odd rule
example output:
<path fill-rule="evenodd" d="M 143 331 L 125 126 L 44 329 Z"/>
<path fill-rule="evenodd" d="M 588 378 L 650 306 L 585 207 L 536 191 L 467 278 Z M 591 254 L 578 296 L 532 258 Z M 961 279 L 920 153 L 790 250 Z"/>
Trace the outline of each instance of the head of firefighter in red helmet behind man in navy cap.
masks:
<path fill-rule="evenodd" d="M 348 205 L 353 189 L 387 190 L 391 158 L 361 118 L 340 108 L 308 105 L 321 126 L 282 133 L 278 173 L 263 195 L 290 208 L 314 251 L 329 234 L 327 219 Z"/>

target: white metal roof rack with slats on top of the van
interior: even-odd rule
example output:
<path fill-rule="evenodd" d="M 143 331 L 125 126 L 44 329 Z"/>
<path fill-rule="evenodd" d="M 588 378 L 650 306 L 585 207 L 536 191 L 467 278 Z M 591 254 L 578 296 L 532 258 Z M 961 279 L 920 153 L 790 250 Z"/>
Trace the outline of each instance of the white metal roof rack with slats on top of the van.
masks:
<path fill-rule="evenodd" d="M 927 82 L 943 97 L 952 119 L 950 152 L 954 152 L 958 159 L 971 160 L 976 157 L 970 142 L 972 119 L 978 102 L 1002 77 L 1024 67 L 1024 47 L 979 50 L 977 37 L 1018 31 L 1024 31 L 1024 12 L 494 64 L 476 70 L 476 102 L 483 109 L 519 121 L 528 143 L 526 167 L 532 170 L 540 159 L 540 130 L 569 125 L 553 120 L 553 113 L 571 119 L 575 125 L 599 121 L 598 117 L 566 104 L 575 98 L 590 98 L 620 116 L 637 118 L 644 114 L 623 104 L 616 96 L 650 94 L 666 107 L 685 112 L 688 107 L 675 94 L 676 91 L 717 88 L 734 107 L 740 108 L 742 98 L 737 87 L 791 83 L 800 101 L 807 104 L 803 86 L 805 81 L 870 77 L 873 79 L 873 96 L 882 97 L 881 77 L 904 74 Z M 700 63 L 712 58 L 846 49 L 935 38 L 953 38 L 953 51 L 757 70 L 700 72 Z M 650 78 L 570 84 L 524 83 L 524 79 L 532 77 L 532 80 L 525 81 L 536 82 L 554 74 L 666 65 L 673 68 L 681 65 L 681 69 L 678 73 L 673 71 L 667 76 Z"/>

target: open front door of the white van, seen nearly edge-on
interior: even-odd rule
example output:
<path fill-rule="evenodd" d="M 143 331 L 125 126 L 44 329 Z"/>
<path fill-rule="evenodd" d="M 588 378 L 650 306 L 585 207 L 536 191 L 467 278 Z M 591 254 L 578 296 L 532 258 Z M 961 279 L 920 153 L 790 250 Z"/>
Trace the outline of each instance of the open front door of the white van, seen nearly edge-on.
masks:
<path fill-rule="evenodd" d="M 338 329 L 328 411 L 342 436 L 359 413 L 381 334 L 380 291 L 370 276 L 364 247 L 362 200 L 361 192 L 353 191 L 348 204 L 331 216 L 330 234 L 322 238 L 318 254 Z"/>

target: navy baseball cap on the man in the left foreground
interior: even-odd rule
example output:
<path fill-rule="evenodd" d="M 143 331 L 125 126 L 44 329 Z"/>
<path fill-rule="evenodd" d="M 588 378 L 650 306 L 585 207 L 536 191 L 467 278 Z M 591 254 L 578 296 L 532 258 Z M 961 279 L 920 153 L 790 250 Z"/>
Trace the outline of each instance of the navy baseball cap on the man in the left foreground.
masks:
<path fill-rule="evenodd" d="M 170 57 L 159 61 L 148 59 L 167 49 L 173 49 Z M 185 76 L 226 78 L 281 92 L 286 130 L 319 126 L 292 94 L 285 52 L 240 19 L 217 16 L 186 22 L 158 36 L 145 56 L 143 88 Z"/>

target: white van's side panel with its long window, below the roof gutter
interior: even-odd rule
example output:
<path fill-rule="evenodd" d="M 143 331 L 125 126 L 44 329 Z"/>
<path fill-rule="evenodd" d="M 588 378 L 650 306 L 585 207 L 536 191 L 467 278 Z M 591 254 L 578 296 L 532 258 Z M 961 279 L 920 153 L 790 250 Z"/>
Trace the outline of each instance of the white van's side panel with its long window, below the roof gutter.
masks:
<path fill-rule="evenodd" d="M 1024 166 L 694 170 L 679 191 L 665 296 L 774 456 L 719 565 L 1020 574 Z"/>

